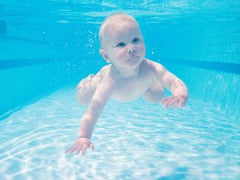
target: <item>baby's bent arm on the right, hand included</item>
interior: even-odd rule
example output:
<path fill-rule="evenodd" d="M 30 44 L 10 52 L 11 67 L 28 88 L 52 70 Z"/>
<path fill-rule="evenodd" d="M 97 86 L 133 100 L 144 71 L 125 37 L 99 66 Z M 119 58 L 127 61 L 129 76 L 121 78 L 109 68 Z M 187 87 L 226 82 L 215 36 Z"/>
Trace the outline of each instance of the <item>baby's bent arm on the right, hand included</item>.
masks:
<path fill-rule="evenodd" d="M 172 93 L 171 97 L 162 101 L 164 107 L 183 107 L 188 99 L 188 90 L 184 82 L 167 71 L 161 64 L 154 63 L 154 69 L 157 81 Z"/>

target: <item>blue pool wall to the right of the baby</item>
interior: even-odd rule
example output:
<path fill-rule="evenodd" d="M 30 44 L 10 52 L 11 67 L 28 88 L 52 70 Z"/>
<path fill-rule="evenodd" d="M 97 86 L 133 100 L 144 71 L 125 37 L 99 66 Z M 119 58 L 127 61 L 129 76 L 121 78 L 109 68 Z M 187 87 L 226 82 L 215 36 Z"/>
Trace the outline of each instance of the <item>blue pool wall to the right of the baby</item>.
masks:
<path fill-rule="evenodd" d="M 142 27 L 145 25 L 142 24 Z M 240 23 L 201 14 L 143 28 L 148 57 L 182 78 L 196 97 L 240 119 Z"/>

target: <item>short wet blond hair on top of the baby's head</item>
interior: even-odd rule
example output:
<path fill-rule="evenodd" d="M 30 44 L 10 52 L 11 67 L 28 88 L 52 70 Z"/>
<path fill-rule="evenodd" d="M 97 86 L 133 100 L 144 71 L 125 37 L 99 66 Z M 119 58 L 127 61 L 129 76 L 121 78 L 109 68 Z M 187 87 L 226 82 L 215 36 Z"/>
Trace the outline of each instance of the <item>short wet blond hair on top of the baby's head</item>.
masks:
<path fill-rule="evenodd" d="M 138 25 L 137 21 L 132 16 L 125 13 L 112 13 L 105 18 L 99 30 L 99 40 L 100 40 L 101 48 L 104 47 L 103 36 L 104 36 L 104 31 L 107 25 L 109 23 L 118 23 L 118 22 L 120 23 L 123 21 L 124 22 L 132 21 Z"/>

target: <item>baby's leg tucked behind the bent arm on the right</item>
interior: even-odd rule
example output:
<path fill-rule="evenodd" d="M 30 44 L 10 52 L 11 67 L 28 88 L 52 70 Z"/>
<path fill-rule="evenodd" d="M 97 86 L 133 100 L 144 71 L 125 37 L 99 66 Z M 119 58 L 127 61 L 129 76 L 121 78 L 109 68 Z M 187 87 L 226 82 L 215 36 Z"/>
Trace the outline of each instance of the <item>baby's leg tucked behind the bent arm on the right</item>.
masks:
<path fill-rule="evenodd" d="M 154 83 L 145 93 L 143 98 L 151 103 L 159 103 L 164 98 L 164 88 L 160 83 Z"/>

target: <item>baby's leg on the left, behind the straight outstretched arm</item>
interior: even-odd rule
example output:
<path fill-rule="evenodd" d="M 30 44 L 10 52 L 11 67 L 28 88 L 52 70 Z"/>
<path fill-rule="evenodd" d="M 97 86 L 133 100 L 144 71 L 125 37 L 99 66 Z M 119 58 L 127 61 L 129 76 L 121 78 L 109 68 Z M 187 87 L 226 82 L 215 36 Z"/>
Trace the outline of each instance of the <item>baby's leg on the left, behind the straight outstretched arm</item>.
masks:
<path fill-rule="evenodd" d="M 83 105 L 89 105 L 92 97 L 101 82 L 102 75 L 90 74 L 87 78 L 81 80 L 77 85 L 77 100 Z"/>

